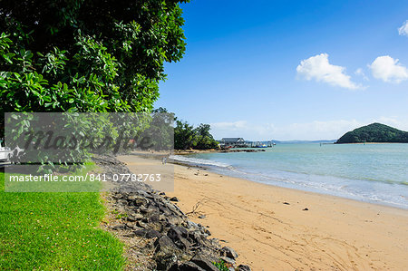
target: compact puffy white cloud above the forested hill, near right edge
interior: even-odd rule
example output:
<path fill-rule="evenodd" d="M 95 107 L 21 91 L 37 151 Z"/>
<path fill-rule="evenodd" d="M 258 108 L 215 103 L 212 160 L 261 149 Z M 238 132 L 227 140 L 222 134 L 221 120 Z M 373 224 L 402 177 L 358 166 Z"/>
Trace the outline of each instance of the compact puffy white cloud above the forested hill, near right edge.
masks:
<path fill-rule="evenodd" d="M 408 79 L 408 69 L 401 63 L 398 63 L 398 59 L 393 59 L 389 55 L 377 57 L 369 67 L 373 72 L 374 78 L 384 82 L 399 83 Z"/>

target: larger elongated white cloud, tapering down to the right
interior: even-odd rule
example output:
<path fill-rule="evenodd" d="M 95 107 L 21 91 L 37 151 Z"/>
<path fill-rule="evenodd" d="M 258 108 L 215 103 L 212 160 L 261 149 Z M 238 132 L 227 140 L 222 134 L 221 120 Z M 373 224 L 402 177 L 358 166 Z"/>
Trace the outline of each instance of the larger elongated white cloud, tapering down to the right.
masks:
<path fill-rule="evenodd" d="M 327 53 L 320 53 L 301 61 L 296 67 L 296 72 L 306 80 L 314 79 L 317 82 L 327 82 L 350 90 L 362 88 L 345 74 L 345 67 L 329 63 Z"/>

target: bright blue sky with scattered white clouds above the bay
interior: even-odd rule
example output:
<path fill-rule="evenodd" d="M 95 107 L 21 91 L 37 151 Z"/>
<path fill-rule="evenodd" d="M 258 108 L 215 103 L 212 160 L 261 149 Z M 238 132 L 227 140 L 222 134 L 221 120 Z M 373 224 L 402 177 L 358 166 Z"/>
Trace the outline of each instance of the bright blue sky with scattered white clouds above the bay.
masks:
<path fill-rule="evenodd" d="M 215 139 L 335 140 L 381 122 L 408 131 L 408 1 L 181 5 L 187 50 L 155 107 Z"/>

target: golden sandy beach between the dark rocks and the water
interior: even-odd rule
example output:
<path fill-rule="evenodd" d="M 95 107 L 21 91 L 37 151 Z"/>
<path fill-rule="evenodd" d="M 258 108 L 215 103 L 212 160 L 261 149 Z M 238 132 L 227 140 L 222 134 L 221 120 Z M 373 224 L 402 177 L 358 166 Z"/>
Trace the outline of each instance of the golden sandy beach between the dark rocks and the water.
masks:
<path fill-rule="evenodd" d="M 120 160 L 135 165 L 135 156 Z M 160 163 L 160 160 L 156 161 Z M 132 165 L 129 168 L 132 169 Z M 253 270 L 408 269 L 408 211 L 174 166 L 174 192 Z M 205 218 L 199 218 L 204 215 Z"/>

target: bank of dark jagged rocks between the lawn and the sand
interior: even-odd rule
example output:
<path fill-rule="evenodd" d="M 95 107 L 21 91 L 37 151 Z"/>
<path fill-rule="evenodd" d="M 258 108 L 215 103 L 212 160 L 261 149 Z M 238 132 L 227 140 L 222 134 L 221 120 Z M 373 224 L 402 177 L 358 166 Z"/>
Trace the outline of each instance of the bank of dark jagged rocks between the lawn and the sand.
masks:
<path fill-rule="evenodd" d="M 97 156 L 94 162 L 105 174 L 131 173 L 112 156 Z M 110 210 L 102 227 L 126 245 L 127 270 L 250 270 L 236 266 L 238 254 L 221 247 L 207 227 L 189 220 L 164 192 L 144 183 L 112 186 L 103 194 Z M 224 270 L 224 269 L 222 269 Z"/>

